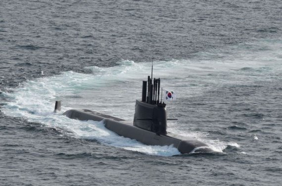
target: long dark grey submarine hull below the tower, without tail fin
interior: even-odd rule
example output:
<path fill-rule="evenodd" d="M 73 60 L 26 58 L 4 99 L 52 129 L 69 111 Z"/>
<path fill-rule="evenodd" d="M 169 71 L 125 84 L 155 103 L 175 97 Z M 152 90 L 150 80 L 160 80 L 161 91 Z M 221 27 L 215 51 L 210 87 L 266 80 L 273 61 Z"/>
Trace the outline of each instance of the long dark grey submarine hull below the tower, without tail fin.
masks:
<path fill-rule="evenodd" d="M 129 124 L 127 121 L 112 117 L 109 115 L 101 114 L 99 112 L 83 109 L 71 109 L 63 113 L 63 115 L 78 120 L 94 120 L 104 122 L 105 127 L 118 134 L 130 139 L 136 139 L 146 145 L 173 145 L 180 153 L 186 154 L 190 152 L 210 152 L 212 151 L 208 145 L 196 139 L 183 139 L 172 133 L 168 135 L 157 134 L 134 125 Z"/>

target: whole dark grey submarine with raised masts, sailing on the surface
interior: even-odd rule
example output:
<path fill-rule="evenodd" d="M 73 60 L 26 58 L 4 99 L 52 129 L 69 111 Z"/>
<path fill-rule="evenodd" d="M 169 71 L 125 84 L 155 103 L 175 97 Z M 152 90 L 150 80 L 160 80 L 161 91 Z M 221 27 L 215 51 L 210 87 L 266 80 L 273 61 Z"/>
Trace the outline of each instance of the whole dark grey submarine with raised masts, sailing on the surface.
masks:
<path fill-rule="evenodd" d="M 152 77 L 152 75 L 151 75 Z M 103 121 L 104 126 L 125 138 L 136 139 L 146 145 L 173 145 L 181 154 L 211 152 L 205 143 L 191 138 L 167 132 L 167 121 L 177 120 L 167 118 L 166 104 L 160 97 L 160 78 L 142 82 L 141 100 L 136 100 L 134 120 L 105 115 L 88 109 L 71 109 L 63 113 L 68 118 L 77 120 Z M 55 111 L 60 111 L 61 101 L 56 101 Z"/>

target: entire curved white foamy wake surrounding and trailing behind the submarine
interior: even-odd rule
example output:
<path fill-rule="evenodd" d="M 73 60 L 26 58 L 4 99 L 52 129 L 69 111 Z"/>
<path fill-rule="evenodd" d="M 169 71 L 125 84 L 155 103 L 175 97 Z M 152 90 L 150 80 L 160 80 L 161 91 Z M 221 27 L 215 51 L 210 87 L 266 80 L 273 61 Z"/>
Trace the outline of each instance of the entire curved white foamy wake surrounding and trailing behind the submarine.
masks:
<path fill-rule="evenodd" d="M 281 44 L 274 46 L 280 48 Z M 178 99 L 169 104 L 167 109 L 179 111 L 181 108 L 178 105 L 183 98 L 198 96 L 226 84 L 245 84 L 246 81 L 256 82 L 258 79 L 266 81 L 272 77 L 280 77 L 275 74 L 282 70 L 279 57 L 281 50 L 266 50 L 266 53 L 244 51 L 242 49 L 238 55 L 234 52 L 228 57 L 216 60 L 211 60 L 210 57 L 214 52 L 206 52 L 197 60 L 155 61 L 153 76 L 162 78 L 163 88 L 174 90 L 178 94 Z M 278 53 L 270 53 L 273 55 L 270 57 L 271 60 L 268 60 L 265 54 L 270 51 Z M 240 71 L 243 67 L 255 70 Z M 260 68 L 263 71 L 256 71 Z M 93 73 L 68 71 L 52 77 L 26 81 L 20 87 L 12 89 L 12 93 L 2 93 L 9 100 L 2 111 L 9 116 L 23 117 L 47 127 L 62 129 L 65 135 L 74 138 L 97 139 L 105 144 L 152 155 L 179 154 L 178 150 L 171 146 L 148 146 L 136 140 L 116 136 L 103 128 L 101 123 L 71 120 L 61 116 L 62 112 L 53 113 L 54 101 L 61 99 L 63 111 L 70 108 L 85 108 L 127 120 L 133 119 L 135 99 L 141 97 L 141 80 L 146 80 L 146 76 L 150 74 L 151 63 L 124 60 L 120 61 L 119 65 L 109 68 L 93 66 L 87 69 Z M 199 139 L 214 151 L 222 152 L 227 145 L 239 148 L 236 142 L 210 139 L 208 133 L 191 132 L 185 124 L 178 125 L 170 125 L 169 130 Z"/>

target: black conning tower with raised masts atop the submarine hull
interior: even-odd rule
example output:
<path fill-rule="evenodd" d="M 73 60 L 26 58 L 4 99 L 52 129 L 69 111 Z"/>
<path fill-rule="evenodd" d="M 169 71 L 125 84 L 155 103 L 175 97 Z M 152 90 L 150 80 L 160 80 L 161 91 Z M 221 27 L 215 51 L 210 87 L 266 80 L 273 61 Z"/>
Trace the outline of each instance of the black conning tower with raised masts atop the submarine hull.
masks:
<path fill-rule="evenodd" d="M 148 81 L 143 81 L 142 99 L 136 100 L 133 125 L 158 135 L 166 135 L 166 104 L 161 103 L 159 97 L 160 79 L 154 78 L 152 81 L 148 76 Z"/>

